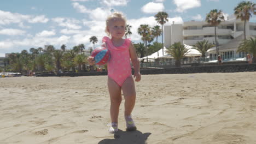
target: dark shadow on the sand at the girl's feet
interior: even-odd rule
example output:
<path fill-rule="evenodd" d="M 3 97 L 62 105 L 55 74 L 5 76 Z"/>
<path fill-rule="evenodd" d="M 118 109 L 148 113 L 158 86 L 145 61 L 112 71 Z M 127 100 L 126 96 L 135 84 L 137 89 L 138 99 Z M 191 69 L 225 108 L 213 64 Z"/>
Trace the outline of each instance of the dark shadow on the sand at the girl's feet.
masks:
<path fill-rule="evenodd" d="M 146 144 L 146 140 L 151 133 L 142 134 L 141 131 L 123 131 L 118 130 L 114 134 L 115 139 L 104 139 L 98 144 Z"/>

